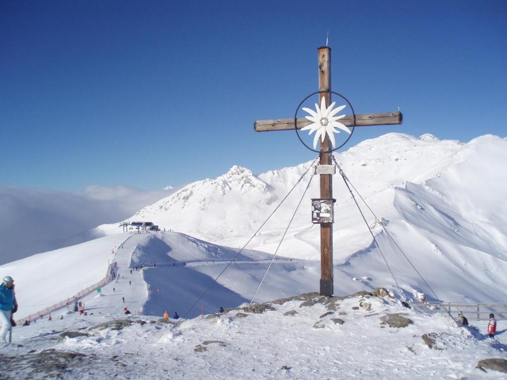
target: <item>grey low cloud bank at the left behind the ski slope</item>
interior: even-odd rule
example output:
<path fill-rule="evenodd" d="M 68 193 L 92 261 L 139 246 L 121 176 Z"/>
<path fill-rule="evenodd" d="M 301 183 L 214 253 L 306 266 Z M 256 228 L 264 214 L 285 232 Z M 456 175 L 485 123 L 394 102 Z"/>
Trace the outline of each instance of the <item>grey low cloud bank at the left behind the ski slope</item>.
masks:
<path fill-rule="evenodd" d="M 122 185 L 91 185 L 78 193 L 0 186 L 0 264 L 94 238 L 87 231 L 173 192 Z"/>

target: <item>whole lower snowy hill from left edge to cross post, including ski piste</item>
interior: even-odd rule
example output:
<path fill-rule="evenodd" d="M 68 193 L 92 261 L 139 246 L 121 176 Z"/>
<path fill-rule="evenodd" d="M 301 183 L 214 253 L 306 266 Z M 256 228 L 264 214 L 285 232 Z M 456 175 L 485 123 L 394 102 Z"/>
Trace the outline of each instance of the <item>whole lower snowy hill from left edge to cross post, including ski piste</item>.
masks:
<path fill-rule="evenodd" d="M 15 279 L 18 320 L 100 281 L 109 262 L 118 265 L 119 279 L 102 286 L 100 293 L 80 298 L 86 311 L 121 314 L 127 307 L 134 314 L 161 316 L 169 310 L 171 316 L 175 311 L 183 315 L 237 252 L 180 233 L 119 234 L 14 261 L 0 267 L 0 275 Z M 271 257 L 244 250 L 187 317 L 249 301 Z M 136 271 L 141 264 L 144 268 Z M 318 271 L 317 261 L 279 257 L 256 300 L 313 291 Z M 65 312 L 63 308 L 52 317 Z"/>

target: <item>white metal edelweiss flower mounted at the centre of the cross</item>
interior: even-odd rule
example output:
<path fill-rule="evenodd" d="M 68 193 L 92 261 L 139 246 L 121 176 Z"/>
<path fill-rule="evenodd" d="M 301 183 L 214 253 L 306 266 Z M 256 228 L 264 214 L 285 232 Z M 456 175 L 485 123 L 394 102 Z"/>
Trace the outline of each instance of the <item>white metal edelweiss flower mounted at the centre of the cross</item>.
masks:
<path fill-rule="evenodd" d="M 301 130 L 310 130 L 308 133 L 309 135 L 316 131 L 315 138 L 313 139 L 314 149 L 317 147 L 317 141 L 319 137 L 323 142 L 326 134 L 329 136 L 329 140 L 333 144 L 333 147 L 335 147 L 336 144 L 334 133 L 340 133 L 340 131 L 336 130 L 336 128 L 339 128 L 342 131 L 350 134 L 350 130 L 345 125 L 337 121 L 344 118 L 345 115 L 335 116 L 338 112 L 345 108 L 346 105 L 341 105 L 338 108 L 333 109 L 335 104 L 336 102 L 333 102 L 329 107 L 326 108 L 325 99 L 322 97 L 322 100 L 320 101 L 320 107 L 317 103 L 315 103 L 316 111 L 310 108 L 302 108 L 304 111 L 308 112 L 311 115 L 305 116 L 305 118 L 313 123 L 301 128 Z"/>

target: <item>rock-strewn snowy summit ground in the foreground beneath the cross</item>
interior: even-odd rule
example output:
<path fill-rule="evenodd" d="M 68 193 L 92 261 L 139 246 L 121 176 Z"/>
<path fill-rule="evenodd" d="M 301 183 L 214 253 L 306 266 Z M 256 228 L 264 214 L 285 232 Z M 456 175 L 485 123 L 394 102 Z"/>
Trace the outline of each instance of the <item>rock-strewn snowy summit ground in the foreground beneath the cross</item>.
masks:
<path fill-rule="evenodd" d="M 361 302 L 368 302 L 369 308 Z M 23 346 L 9 347 L 9 351 L 18 358 L 31 350 L 37 355 L 50 348 L 86 355 L 59 372 L 64 379 L 77 374 L 85 379 L 504 378 L 501 372 L 475 368 L 480 359 L 505 357 L 506 347 L 485 338 L 474 326 L 455 327 L 445 316 L 408 310 L 389 298 L 355 296 L 338 300 L 336 308 L 305 303 L 307 306 L 303 300 L 272 303 L 275 310 L 262 314 L 233 310 L 198 317 L 172 331 L 172 324 L 165 323 L 89 330 L 111 317 L 68 316 L 17 329 L 16 341 Z M 388 327 L 380 318 L 390 313 L 403 313 L 413 323 Z M 67 330 L 91 335 L 59 339 L 58 334 Z M 434 333 L 432 349 L 421 338 L 429 333 Z M 8 373 L 13 377 L 6 378 L 27 374 L 22 366 L 17 368 Z M 43 375 L 35 372 L 31 378 Z"/>

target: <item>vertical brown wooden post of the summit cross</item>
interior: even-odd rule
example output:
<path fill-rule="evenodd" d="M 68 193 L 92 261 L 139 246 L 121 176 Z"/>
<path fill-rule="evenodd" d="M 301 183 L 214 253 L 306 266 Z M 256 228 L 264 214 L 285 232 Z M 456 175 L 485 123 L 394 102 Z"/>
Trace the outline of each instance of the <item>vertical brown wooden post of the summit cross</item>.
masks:
<path fill-rule="evenodd" d="M 325 106 L 331 104 L 331 48 L 318 48 L 319 104 L 325 99 Z M 331 150 L 329 136 L 320 142 L 320 151 Z M 331 154 L 320 153 L 320 164 L 331 165 Z M 333 176 L 320 174 L 320 198 L 333 199 Z M 320 224 L 320 295 L 333 295 L 333 223 Z"/>

